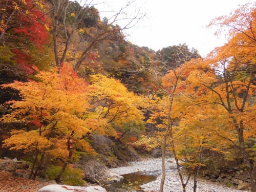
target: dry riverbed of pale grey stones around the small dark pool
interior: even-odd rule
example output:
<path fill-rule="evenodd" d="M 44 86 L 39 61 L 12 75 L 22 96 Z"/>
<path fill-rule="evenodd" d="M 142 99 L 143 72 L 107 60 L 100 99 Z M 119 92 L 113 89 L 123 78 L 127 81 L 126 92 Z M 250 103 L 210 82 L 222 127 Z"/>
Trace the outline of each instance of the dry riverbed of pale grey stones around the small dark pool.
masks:
<path fill-rule="evenodd" d="M 166 169 L 175 168 L 176 164 L 174 163 L 174 159 L 166 159 L 165 161 Z M 155 170 L 161 170 L 162 163 L 161 158 L 158 159 L 148 159 L 145 161 L 139 162 L 131 162 L 130 166 L 127 167 L 119 167 L 110 169 L 111 172 L 123 175 L 135 172 L 152 172 Z M 161 182 L 161 175 L 157 177 L 156 181 L 143 184 L 141 187 L 144 188 L 144 191 L 158 191 Z M 186 191 L 193 191 L 193 179 L 187 184 Z M 173 172 L 166 172 L 165 184 L 164 184 L 164 192 L 182 192 L 182 185 L 180 182 L 180 178 L 178 175 L 178 171 L 175 170 Z M 218 182 L 211 182 L 206 179 L 198 179 L 198 192 L 238 192 L 238 190 L 234 187 L 228 187 L 226 185 L 222 185 Z M 249 192 L 248 190 L 243 190 L 244 192 Z"/>

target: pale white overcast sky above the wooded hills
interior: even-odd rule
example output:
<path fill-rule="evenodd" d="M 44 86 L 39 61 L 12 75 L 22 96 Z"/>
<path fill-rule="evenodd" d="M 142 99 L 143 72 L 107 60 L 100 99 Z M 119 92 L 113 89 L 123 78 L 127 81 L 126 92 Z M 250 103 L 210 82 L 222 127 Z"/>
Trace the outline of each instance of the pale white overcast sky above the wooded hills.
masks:
<path fill-rule="evenodd" d="M 125 0 L 105 0 L 105 4 L 95 6 L 100 16 L 110 17 L 125 5 Z M 228 15 L 238 5 L 250 0 L 137 0 L 125 9 L 127 15 L 134 14 L 139 7 L 146 17 L 126 30 L 126 38 L 132 44 L 148 47 L 155 51 L 164 47 L 186 43 L 195 48 L 201 56 L 206 56 L 215 47 L 222 46 L 224 36 L 217 37 L 206 26 L 210 20 Z M 123 23 L 122 23 L 123 22 Z M 118 25 L 125 25 L 123 20 Z"/>

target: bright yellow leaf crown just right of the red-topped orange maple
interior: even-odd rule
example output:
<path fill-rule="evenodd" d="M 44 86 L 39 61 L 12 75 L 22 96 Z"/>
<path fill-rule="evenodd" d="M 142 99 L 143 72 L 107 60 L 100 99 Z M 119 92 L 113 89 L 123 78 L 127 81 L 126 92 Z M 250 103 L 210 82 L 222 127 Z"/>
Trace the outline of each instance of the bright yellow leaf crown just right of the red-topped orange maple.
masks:
<path fill-rule="evenodd" d="M 105 118 L 108 123 L 116 125 L 143 119 L 138 109 L 142 98 L 127 91 L 120 81 L 103 75 L 92 75 L 90 81 L 90 102 L 94 103 L 98 118 Z"/>

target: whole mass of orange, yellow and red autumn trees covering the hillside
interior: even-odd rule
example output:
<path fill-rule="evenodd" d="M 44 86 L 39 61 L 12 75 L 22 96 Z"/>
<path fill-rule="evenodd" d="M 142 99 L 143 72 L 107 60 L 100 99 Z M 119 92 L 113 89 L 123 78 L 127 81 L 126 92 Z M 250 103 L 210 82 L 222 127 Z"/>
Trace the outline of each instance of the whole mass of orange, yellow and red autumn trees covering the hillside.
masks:
<path fill-rule="evenodd" d="M 180 164 L 195 192 L 210 166 L 206 151 L 243 161 L 256 191 L 254 5 L 211 20 L 227 43 L 204 58 L 186 44 L 157 52 L 132 45 L 91 5 L 6 1 L 0 13 L 1 147 L 32 157 L 30 178 L 79 175 L 69 165 L 100 157 L 93 136 L 105 135 L 120 146 L 116 154 L 162 148 L 160 191 L 166 152 L 183 191 Z"/>

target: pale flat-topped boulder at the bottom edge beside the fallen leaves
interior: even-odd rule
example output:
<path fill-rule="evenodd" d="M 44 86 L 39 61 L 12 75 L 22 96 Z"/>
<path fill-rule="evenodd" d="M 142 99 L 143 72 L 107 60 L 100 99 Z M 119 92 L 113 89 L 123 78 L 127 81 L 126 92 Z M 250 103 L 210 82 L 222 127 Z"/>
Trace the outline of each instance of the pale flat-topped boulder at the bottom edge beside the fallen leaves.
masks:
<path fill-rule="evenodd" d="M 90 187 L 76 187 L 69 185 L 47 185 L 38 190 L 38 192 L 77 192 L 77 191 L 86 191 L 86 192 L 106 192 L 101 186 L 90 186 Z"/>

